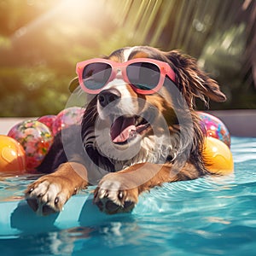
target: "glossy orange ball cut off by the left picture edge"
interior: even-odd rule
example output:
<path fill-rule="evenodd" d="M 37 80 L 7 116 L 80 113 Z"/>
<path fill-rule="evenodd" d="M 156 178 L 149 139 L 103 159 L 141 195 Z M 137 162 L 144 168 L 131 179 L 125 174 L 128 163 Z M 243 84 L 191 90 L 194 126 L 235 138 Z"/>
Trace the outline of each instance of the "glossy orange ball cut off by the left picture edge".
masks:
<path fill-rule="evenodd" d="M 26 172 L 26 154 L 12 137 L 0 135 L 0 172 Z"/>

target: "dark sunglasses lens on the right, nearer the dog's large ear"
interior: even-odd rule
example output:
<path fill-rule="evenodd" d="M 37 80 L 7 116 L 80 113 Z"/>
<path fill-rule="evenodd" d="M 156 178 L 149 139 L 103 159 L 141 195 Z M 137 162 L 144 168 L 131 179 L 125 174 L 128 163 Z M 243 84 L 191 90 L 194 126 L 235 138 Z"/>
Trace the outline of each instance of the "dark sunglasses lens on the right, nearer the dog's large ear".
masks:
<path fill-rule="evenodd" d="M 154 63 L 132 63 L 126 73 L 130 83 L 139 90 L 153 90 L 160 81 L 160 68 Z"/>

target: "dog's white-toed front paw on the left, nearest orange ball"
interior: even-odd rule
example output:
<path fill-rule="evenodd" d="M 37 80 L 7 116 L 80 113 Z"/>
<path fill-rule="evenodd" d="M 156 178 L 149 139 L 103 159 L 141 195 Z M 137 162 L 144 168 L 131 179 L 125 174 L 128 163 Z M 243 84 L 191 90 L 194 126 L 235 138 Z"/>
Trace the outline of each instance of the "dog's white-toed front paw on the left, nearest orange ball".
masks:
<path fill-rule="evenodd" d="M 71 191 L 63 187 L 63 179 L 51 175 L 39 178 L 25 191 L 28 205 L 39 215 L 61 212 L 71 195 Z"/>

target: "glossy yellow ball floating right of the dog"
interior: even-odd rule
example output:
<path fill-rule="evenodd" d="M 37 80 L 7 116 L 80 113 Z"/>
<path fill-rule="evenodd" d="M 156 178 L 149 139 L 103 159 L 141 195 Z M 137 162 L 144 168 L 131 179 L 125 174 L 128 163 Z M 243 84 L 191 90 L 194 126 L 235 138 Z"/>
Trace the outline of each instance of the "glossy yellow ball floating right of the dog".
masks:
<path fill-rule="evenodd" d="M 207 170 L 211 173 L 225 175 L 234 171 L 230 148 L 217 138 L 205 139 L 202 157 Z"/>

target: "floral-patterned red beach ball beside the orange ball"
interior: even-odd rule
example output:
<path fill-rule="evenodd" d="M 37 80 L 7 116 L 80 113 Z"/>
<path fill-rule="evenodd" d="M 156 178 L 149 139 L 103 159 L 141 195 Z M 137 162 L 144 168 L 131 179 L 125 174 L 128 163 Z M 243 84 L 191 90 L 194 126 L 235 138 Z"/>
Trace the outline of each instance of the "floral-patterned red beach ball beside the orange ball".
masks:
<path fill-rule="evenodd" d="M 48 153 L 53 137 L 49 128 L 37 120 L 26 120 L 15 125 L 8 133 L 25 149 L 26 169 L 35 170 Z"/>

